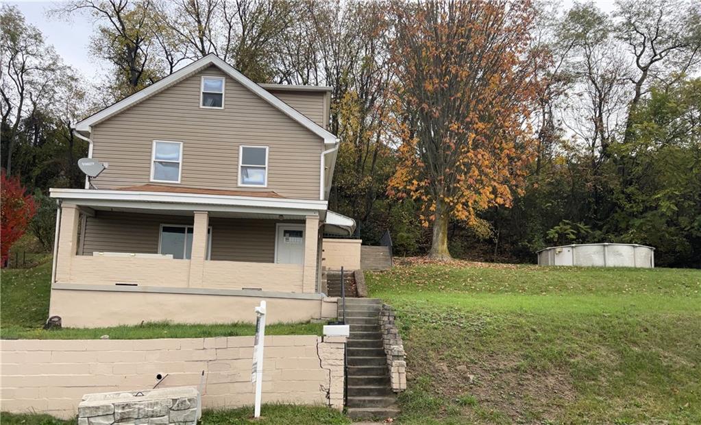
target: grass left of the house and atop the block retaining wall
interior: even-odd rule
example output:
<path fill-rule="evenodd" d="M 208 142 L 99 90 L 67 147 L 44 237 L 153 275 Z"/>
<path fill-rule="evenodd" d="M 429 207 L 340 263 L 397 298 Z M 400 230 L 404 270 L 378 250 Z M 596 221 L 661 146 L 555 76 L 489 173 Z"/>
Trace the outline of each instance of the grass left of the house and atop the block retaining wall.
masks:
<path fill-rule="evenodd" d="M 32 269 L 0 271 L 0 338 L 3 339 L 111 339 L 236 337 L 255 335 L 250 323 L 192 325 L 144 323 L 111 328 L 43 330 L 48 318 L 51 262 Z M 266 335 L 321 335 L 322 323 L 280 323 L 266 326 Z"/>

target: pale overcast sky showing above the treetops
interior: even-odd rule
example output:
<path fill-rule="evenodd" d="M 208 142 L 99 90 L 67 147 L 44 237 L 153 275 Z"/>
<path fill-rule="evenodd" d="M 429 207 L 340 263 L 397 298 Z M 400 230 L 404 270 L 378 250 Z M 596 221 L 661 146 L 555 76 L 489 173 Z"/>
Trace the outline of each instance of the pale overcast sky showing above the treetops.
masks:
<path fill-rule="evenodd" d="M 56 52 L 67 65 L 77 69 L 83 76 L 93 81 L 107 73 L 108 65 L 99 58 L 92 58 L 88 44 L 93 34 L 95 22 L 88 15 L 75 15 L 70 20 L 48 17 L 46 11 L 60 5 L 57 1 L 7 1 L 18 6 L 30 24 L 39 28 L 47 43 L 53 44 Z M 601 10 L 613 10 L 613 0 L 595 0 Z M 564 0 L 564 7 L 573 0 Z"/>

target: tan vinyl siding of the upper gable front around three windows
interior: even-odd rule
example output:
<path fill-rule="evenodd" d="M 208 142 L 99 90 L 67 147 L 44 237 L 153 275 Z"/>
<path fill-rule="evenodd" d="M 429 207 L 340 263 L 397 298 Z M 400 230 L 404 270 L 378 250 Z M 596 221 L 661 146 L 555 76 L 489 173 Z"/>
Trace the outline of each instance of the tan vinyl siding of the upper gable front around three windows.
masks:
<path fill-rule="evenodd" d="M 170 140 L 183 142 L 180 186 L 236 189 L 246 144 L 269 147 L 268 187 L 246 190 L 318 199 L 322 139 L 228 76 L 224 109 L 200 108 L 202 75 L 225 76 L 209 67 L 93 128 L 93 157 L 109 163 L 95 185 L 149 183 L 153 141 Z"/>

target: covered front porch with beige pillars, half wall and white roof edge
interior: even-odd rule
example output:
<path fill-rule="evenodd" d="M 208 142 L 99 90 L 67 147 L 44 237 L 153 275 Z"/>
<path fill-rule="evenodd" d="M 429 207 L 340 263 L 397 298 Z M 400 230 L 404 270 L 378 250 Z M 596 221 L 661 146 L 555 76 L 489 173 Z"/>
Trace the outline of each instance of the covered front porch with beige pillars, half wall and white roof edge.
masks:
<path fill-rule="evenodd" d="M 53 285 L 318 294 L 323 201 L 57 189 Z"/>

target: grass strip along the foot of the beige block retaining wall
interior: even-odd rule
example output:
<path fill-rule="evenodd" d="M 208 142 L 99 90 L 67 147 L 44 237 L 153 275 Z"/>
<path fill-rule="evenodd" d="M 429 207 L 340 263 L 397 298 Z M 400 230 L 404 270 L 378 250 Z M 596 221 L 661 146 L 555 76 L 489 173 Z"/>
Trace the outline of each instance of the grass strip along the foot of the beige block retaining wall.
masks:
<path fill-rule="evenodd" d="M 263 405 L 261 417 L 252 419 L 253 407 L 241 407 L 233 410 L 205 410 L 200 425 L 345 425 L 351 421 L 341 412 L 328 407 L 310 407 L 296 405 Z M 68 425 L 75 420 L 62 421 L 46 414 L 10 414 L 1 413 L 3 425 Z"/>

